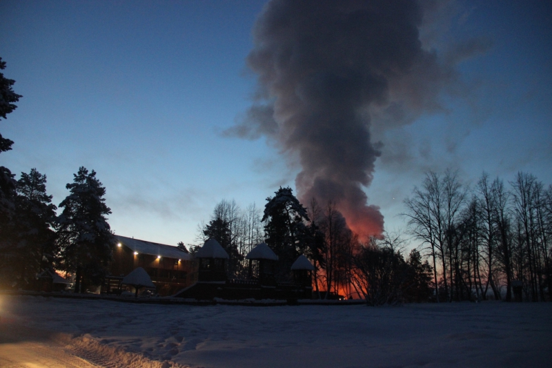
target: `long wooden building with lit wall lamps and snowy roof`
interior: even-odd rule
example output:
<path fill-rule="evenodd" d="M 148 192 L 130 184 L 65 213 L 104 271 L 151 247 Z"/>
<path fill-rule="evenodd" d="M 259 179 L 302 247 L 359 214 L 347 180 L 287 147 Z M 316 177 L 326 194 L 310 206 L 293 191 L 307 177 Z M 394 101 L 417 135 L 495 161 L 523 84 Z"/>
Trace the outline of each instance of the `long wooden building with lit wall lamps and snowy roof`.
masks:
<path fill-rule="evenodd" d="M 124 276 L 142 267 L 150 276 L 159 296 L 169 296 L 197 282 L 197 264 L 193 257 L 176 246 L 115 235 L 110 275 L 102 293 L 121 293 Z"/>

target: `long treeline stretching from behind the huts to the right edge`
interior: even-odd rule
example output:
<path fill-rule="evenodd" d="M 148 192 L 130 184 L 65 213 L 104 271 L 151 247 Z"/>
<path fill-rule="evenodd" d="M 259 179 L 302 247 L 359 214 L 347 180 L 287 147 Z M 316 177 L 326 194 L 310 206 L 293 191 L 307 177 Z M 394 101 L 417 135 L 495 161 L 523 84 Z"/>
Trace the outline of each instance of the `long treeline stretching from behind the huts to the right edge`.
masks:
<path fill-rule="evenodd" d="M 245 255 L 264 241 L 279 256 L 280 280 L 305 254 L 316 291 L 369 304 L 512 301 L 514 291 L 518 300 L 551 300 L 552 186 L 520 172 L 507 187 L 483 173 L 470 188 L 451 170 L 428 172 L 404 206 L 406 229 L 361 240 L 335 204 L 306 208 L 290 188 L 268 197 L 264 213 L 223 200 L 191 251 L 217 239 L 230 255 L 228 277 L 244 278 Z M 406 244 L 418 246 L 405 255 Z"/>

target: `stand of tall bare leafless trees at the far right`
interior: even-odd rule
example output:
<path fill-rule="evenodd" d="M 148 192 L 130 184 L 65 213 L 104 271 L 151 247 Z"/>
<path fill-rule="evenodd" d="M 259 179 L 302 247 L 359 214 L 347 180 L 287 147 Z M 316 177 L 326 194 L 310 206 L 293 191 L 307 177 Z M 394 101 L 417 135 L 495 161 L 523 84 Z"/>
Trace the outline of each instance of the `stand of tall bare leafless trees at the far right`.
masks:
<path fill-rule="evenodd" d="M 483 173 L 469 188 L 453 171 L 429 172 L 404 204 L 440 300 L 510 301 L 513 290 L 551 300 L 552 186 L 520 172 L 507 186 Z"/>

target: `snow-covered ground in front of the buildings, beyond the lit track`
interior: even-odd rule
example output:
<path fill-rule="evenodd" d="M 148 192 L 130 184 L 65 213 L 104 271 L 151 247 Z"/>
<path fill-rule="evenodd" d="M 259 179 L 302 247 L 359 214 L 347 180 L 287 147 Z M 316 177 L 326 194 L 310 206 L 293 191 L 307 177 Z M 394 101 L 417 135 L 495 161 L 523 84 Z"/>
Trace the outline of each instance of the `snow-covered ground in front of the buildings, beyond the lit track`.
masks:
<path fill-rule="evenodd" d="M 58 340 L 65 336 L 66 351 L 105 367 L 551 367 L 552 362 L 552 303 L 243 307 L 0 298 L 0 323 L 55 331 Z"/>

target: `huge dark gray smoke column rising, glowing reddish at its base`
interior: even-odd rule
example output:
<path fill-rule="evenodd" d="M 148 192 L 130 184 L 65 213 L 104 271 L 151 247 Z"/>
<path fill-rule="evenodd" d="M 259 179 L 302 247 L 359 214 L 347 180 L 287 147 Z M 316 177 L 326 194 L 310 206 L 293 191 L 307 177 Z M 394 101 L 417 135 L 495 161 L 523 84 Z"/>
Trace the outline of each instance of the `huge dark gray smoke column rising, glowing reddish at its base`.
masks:
<path fill-rule="evenodd" d="M 275 139 L 299 157 L 304 204 L 331 200 L 353 231 L 380 235 L 384 218 L 364 193 L 381 148 L 371 124 L 438 108 L 439 86 L 453 78 L 422 48 L 422 20 L 416 1 L 270 1 L 247 59 L 257 102 L 226 133 Z"/>

